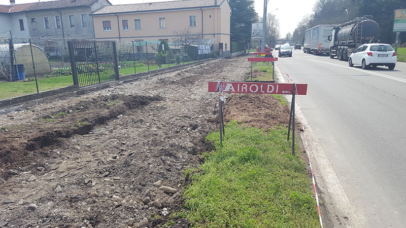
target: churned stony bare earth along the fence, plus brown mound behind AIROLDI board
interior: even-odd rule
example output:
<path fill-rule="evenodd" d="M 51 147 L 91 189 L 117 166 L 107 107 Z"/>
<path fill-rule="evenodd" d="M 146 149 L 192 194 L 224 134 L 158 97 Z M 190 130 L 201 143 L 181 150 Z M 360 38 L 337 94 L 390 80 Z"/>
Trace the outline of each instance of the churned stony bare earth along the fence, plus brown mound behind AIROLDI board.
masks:
<path fill-rule="evenodd" d="M 218 128 L 208 82 L 241 81 L 249 67 L 247 56 L 219 59 L 1 115 L 0 227 L 163 225 Z M 225 97 L 226 120 L 288 121 L 270 95 Z"/>

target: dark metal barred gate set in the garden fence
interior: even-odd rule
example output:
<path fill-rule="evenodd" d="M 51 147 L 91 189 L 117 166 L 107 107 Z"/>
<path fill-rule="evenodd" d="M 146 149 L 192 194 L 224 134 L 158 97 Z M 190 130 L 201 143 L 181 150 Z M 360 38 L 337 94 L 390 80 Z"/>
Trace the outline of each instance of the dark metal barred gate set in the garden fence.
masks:
<path fill-rule="evenodd" d="M 119 79 L 114 41 L 68 42 L 73 82 L 79 87 Z"/>

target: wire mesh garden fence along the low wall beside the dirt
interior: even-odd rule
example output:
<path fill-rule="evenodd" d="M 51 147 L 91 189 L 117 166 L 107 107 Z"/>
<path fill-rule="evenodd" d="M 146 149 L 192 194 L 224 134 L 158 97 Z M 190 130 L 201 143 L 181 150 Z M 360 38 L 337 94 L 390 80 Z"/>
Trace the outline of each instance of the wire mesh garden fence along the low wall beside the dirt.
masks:
<path fill-rule="evenodd" d="M 98 52 L 90 51 L 94 50 L 93 46 L 83 47 L 82 51 L 76 53 L 77 56 L 72 56 L 69 41 L 83 42 L 55 38 L 0 37 L 0 100 L 117 79 L 116 71 L 111 71 L 113 59 L 107 59 L 105 55 L 95 56 L 96 53 L 108 51 L 108 47 L 100 47 Z M 116 53 L 110 57 L 117 57 L 118 74 L 128 75 L 217 57 L 219 53 L 213 51 L 213 41 L 201 40 L 187 45 L 162 41 L 110 41 L 116 46 Z M 80 55 L 85 59 L 78 59 Z M 76 61 L 74 68 L 79 73 L 77 81 L 72 75 L 72 58 Z M 93 69 L 81 69 L 82 64 L 86 69 L 86 66 L 93 68 L 93 64 L 97 63 L 101 67 L 98 73 L 96 70 L 92 72 Z"/>

